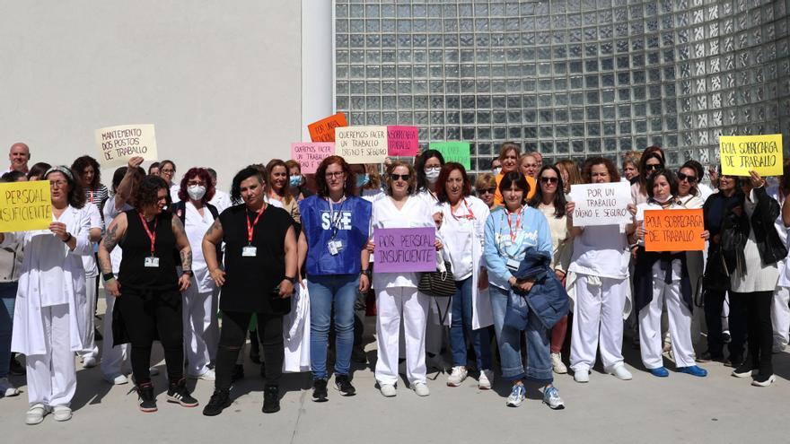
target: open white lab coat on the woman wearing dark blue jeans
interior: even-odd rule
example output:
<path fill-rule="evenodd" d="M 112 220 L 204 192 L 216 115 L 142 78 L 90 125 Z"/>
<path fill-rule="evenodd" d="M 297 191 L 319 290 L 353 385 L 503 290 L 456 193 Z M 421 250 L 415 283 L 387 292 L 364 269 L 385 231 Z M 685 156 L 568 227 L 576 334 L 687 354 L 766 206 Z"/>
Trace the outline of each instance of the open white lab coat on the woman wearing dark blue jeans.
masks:
<path fill-rule="evenodd" d="M 442 213 L 443 222 L 439 228 L 438 235 L 443 243 L 443 257 L 452 264 L 452 273 L 455 274 L 456 262 L 460 262 L 461 255 L 470 255 L 472 259 L 471 278 L 472 278 L 472 329 L 477 330 L 485 326 L 494 325 L 494 314 L 491 311 L 491 299 L 488 291 L 480 291 L 478 287 L 480 269 L 485 268 L 483 258 L 483 245 L 485 242 L 486 221 L 488 220 L 488 205 L 475 196 L 465 198 L 470 210 L 474 215 L 473 227 L 471 232 L 471 251 L 461 251 L 460 246 L 466 243 L 469 231 L 461 231 L 460 225 L 455 217 L 465 216 L 468 211 L 466 205 L 461 204 L 456 211 L 455 217 L 449 203 L 437 205 L 436 210 Z M 467 259 L 469 257 L 467 256 Z M 458 276 L 462 277 L 462 276 Z M 452 311 L 447 314 L 445 325 L 451 325 Z"/>

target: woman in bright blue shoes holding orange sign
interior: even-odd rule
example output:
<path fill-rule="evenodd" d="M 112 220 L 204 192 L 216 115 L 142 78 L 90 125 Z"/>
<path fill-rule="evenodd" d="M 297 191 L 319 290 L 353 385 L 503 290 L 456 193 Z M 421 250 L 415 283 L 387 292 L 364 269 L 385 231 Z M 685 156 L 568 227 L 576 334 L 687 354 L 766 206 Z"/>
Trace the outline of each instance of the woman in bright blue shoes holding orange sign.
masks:
<path fill-rule="evenodd" d="M 671 170 L 657 170 L 647 179 L 647 202 L 636 209 L 636 238 L 639 246 L 634 267 L 636 312 L 639 317 L 639 343 L 642 363 L 654 376 L 664 378 L 669 371 L 663 366 L 661 312 L 666 301 L 669 332 L 675 365 L 681 373 L 705 377 L 694 358 L 691 342 L 691 310 L 694 302 L 689 280 L 689 264 L 685 251 L 645 251 L 645 210 L 682 209 L 677 197 L 678 182 Z M 662 218 L 664 219 L 664 218 Z M 708 232 L 703 231 L 703 239 Z"/>

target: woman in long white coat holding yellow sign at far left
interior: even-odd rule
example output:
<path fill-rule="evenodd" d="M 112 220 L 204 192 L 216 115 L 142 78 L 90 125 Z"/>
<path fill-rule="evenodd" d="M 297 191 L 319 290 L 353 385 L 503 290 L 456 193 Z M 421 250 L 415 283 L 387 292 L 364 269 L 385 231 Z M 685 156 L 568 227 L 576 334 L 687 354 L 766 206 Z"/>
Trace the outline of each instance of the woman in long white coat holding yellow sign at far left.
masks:
<path fill-rule="evenodd" d="M 13 316 L 13 352 L 27 357 L 28 424 L 52 412 L 71 419 L 76 390 L 74 353 L 83 351 L 85 271 L 82 257 L 92 254 L 85 196 L 74 173 L 55 167 L 49 180 L 52 223 L 48 230 L 0 233 L 0 246 L 23 242 L 26 252 Z"/>

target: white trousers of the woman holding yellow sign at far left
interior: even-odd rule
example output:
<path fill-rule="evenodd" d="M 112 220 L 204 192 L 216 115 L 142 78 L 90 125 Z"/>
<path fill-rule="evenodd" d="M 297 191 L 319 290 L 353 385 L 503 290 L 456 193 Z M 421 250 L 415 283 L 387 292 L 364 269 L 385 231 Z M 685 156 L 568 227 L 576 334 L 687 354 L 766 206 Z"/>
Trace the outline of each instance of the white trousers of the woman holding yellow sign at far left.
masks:
<path fill-rule="evenodd" d="M 31 405 L 69 405 L 77 387 L 71 350 L 68 304 L 41 308 L 46 354 L 27 356 L 28 400 Z"/>

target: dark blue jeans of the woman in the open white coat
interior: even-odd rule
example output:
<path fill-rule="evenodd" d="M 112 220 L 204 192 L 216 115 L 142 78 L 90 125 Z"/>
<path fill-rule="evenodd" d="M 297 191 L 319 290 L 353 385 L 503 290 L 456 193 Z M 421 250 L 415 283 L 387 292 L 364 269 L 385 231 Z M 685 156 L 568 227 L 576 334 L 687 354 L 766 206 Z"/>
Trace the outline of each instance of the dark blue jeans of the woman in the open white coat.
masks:
<path fill-rule="evenodd" d="M 472 278 L 456 281 L 452 296 L 452 321 L 450 323 L 450 348 L 452 365 L 466 367 L 466 339 L 469 334 L 472 348 L 477 355 L 478 370 L 491 369 L 491 345 L 488 329 L 472 329 Z"/>

